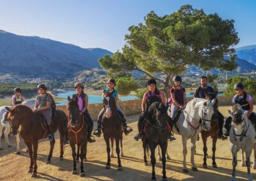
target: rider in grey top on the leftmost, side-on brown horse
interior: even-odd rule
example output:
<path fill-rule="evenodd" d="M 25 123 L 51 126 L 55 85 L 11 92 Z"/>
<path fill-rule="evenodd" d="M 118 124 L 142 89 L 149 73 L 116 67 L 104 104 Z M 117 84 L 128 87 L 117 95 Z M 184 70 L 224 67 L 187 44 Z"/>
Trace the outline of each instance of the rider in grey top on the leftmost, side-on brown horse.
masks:
<path fill-rule="evenodd" d="M 44 115 L 45 120 L 47 122 L 47 129 L 49 131 L 49 134 L 47 135 L 47 140 L 48 141 L 53 141 L 54 136 L 53 136 L 53 131 L 51 127 L 51 122 L 52 122 L 52 96 L 49 94 L 46 90 L 47 88 L 45 87 L 44 84 L 39 84 L 37 86 L 38 93 L 39 95 L 36 97 L 36 103 L 35 103 L 35 110 L 34 112 L 40 112 Z"/>

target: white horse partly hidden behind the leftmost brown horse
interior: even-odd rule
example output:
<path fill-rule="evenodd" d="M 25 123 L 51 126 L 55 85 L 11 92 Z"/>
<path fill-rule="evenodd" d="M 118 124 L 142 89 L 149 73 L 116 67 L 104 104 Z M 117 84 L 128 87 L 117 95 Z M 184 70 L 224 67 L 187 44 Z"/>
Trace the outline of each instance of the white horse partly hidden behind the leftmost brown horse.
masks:
<path fill-rule="evenodd" d="M 22 103 L 22 105 L 29 106 L 29 108 L 33 109 L 34 106 L 35 106 L 35 101 L 36 101 L 36 99 L 29 99 L 28 101 L 24 101 Z M 5 127 L 5 130 L 4 130 L 5 143 L 7 144 L 7 147 L 12 147 L 12 145 L 9 141 L 9 138 L 8 138 L 8 134 L 10 133 L 11 126 L 10 126 L 9 122 L 4 121 L 5 120 L 5 115 L 6 115 L 6 112 L 7 112 L 5 107 L 10 108 L 11 106 L 1 106 L 0 107 L 0 119 L 1 119 L 1 122 L 0 122 L 0 136 L 2 136 L 3 127 Z M 19 133 L 17 134 L 17 137 L 16 137 L 16 144 L 17 144 L 16 154 L 20 154 L 20 134 Z M 1 145 L 1 139 L 0 139 L 0 150 L 3 150 L 3 147 Z"/>

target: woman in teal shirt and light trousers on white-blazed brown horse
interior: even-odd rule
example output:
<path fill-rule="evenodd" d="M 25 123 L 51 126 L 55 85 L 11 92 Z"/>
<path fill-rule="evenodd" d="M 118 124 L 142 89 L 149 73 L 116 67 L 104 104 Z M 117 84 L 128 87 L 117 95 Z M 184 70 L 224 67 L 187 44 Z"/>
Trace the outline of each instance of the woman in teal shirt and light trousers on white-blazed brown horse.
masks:
<path fill-rule="evenodd" d="M 128 135 L 129 133 L 132 132 L 132 129 L 131 129 L 131 127 L 127 126 L 125 113 L 122 110 L 122 108 L 118 105 L 118 91 L 115 89 L 115 85 L 116 85 L 115 79 L 110 78 L 107 82 L 108 88 L 103 89 L 103 91 L 102 91 L 102 98 L 107 97 L 107 96 L 113 96 L 113 98 L 115 98 L 116 110 L 122 114 L 122 117 L 120 119 L 122 120 L 122 123 L 123 123 L 124 133 L 125 133 L 125 135 Z M 101 120 L 102 120 L 104 111 L 105 111 L 104 108 L 100 111 L 100 113 L 98 115 L 98 120 L 97 120 L 97 129 L 93 133 L 98 137 L 100 137 L 100 133 L 101 133 Z M 128 127 L 129 127 L 129 129 L 127 129 Z"/>

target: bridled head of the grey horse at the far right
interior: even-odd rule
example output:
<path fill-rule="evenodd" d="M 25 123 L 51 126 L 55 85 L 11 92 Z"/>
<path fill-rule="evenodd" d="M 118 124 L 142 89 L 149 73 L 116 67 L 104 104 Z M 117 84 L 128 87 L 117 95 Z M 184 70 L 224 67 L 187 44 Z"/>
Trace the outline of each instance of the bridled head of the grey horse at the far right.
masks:
<path fill-rule="evenodd" d="M 235 136 L 235 140 L 240 142 L 243 140 L 244 134 L 246 133 L 246 124 L 248 124 L 248 117 L 247 117 L 247 111 L 244 111 L 241 106 L 234 106 L 234 112 L 230 112 L 228 110 L 228 113 L 230 117 L 232 117 L 232 129 Z"/>

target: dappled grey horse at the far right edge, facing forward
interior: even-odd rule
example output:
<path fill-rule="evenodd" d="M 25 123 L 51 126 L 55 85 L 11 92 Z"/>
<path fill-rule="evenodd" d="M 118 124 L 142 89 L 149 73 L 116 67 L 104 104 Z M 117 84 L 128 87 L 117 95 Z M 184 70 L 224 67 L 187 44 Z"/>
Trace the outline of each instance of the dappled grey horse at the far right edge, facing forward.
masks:
<path fill-rule="evenodd" d="M 228 110 L 229 115 L 232 117 L 232 123 L 230 128 L 229 140 L 230 150 L 233 156 L 233 171 L 232 180 L 236 180 L 236 166 L 237 166 L 237 152 L 241 149 L 246 154 L 246 167 L 248 180 L 252 180 L 250 172 L 250 156 L 252 149 L 254 151 L 254 162 L 252 165 L 253 169 L 256 169 L 256 131 L 253 127 L 252 122 L 248 119 L 248 111 L 243 110 L 241 105 L 234 105 L 234 112 Z M 243 152 L 242 152 L 242 163 L 243 163 Z"/>

